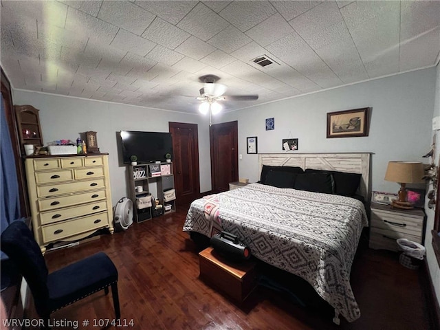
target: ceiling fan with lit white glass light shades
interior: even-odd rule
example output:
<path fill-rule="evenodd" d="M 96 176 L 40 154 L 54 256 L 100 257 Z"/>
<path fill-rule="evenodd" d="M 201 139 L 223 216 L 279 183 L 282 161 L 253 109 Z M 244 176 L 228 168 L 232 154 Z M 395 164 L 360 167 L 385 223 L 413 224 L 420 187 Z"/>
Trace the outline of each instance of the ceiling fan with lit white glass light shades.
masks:
<path fill-rule="evenodd" d="M 218 84 L 219 77 L 213 74 L 207 74 L 199 77 L 203 87 L 199 90 L 200 96 L 197 100 L 201 100 L 199 111 L 203 114 L 209 113 L 209 126 L 211 126 L 211 116 L 219 113 L 222 109 L 219 101 L 223 100 L 258 100 L 259 96 L 253 95 L 224 95 L 228 87 L 223 84 Z"/>

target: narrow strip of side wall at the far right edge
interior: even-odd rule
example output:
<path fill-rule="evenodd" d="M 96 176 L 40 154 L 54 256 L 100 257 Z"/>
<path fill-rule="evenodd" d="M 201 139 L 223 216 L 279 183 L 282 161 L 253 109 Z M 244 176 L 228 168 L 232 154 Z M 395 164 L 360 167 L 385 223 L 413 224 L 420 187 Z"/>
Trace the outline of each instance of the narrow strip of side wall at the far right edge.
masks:
<path fill-rule="evenodd" d="M 440 115 L 440 64 L 437 64 L 437 79 L 435 83 L 435 102 L 434 102 L 434 112 L 432 113 L 432 118 Z M 440 131 L 437 131 L 437 141 L 435 148 L 435 161 L 439 165 L 439 155 L 440 155 Z M 432 141 L 432 140 L 431 140 Z M 432 185 L 430 186 L 432 188 Z M 425 204 L 427 205 L 427 203 Z M 440 266 L 435 258 L 434 250 L 432 249 L 432 234 L 431 230 L 434 228 L 434 210 L 425 207 L 426 210 L 426 261 L 428 262 L 428 268 L 430 270 L 432 283 L 434 285 L 434 290 L 437 295 L 437 300 L 440 305 Z"/>

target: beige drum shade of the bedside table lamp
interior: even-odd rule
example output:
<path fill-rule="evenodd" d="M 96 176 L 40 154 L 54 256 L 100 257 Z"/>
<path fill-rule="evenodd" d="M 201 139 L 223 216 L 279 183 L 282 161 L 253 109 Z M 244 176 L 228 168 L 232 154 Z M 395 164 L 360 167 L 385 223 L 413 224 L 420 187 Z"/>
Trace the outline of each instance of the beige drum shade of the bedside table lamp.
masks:
<path fill-rule="evenodd" d="M 421 162 L 388 162 L 385 179 L 400 184 L 421 184 L 423 175 Z"/>

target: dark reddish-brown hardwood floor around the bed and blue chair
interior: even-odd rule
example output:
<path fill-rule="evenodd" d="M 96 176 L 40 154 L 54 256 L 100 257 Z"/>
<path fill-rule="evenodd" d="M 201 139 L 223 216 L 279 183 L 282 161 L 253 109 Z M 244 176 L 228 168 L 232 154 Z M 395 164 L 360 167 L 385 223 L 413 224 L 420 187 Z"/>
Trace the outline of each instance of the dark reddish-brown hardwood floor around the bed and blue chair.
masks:
<path fill-rule="evenodd" d="M 408 270 L 399 264 L 397 254 L 369 250 L 364 244 L 351 272 L 361 311 L 355 322 L 341 317 L 341 325 L 334 325 L 332 309 L 316 298 L 309 285 L 271 267 L 261 270 L 279 278 L 307 307 L 294 303 L 292 295 L 263 286 L 243 305 L 236 305 L 199 280 L 197 247 L 181 230 L 185 216 L 186 209 L 180 208 L 134 223 L 125 232 L 47 252 L 47 266 L 52 272 L 95 252 L 106 252 L 119 272 L 120 324 L 134 323 L 118 329 L 434 329 L 423 270 Z M 104 292 L 52 314 L 55 320 L 78 320 L 79 329 L 111 329 L 93 327 L 94 319 L 109 318 L 114 318 L 113 303 L 111 293 L 104 296 Z M 83 327 L 86 319 L 91 323 Z"/>

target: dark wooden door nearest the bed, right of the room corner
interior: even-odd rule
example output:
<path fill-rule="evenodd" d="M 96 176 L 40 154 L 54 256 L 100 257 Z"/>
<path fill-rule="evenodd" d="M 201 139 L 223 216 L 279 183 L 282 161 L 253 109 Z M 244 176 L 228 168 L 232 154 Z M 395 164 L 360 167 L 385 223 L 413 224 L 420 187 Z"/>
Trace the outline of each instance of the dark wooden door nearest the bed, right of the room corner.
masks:
<path fill-rule="evenodd" d="M 210 127 L 212 192 L 229 190 L 239 181 L 238 122 L 223 122 Z"/>

